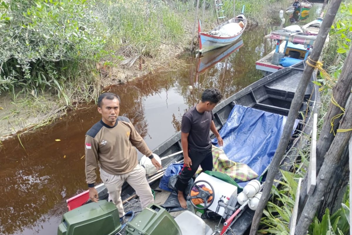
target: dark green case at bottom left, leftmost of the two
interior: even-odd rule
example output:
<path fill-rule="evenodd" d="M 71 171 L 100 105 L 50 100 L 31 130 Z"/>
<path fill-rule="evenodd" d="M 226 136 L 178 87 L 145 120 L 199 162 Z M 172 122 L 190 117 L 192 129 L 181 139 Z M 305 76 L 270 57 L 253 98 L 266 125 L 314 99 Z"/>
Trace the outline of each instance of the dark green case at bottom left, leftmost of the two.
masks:
<path fill-rule="evenodd" d="M 120 228 L 119 212 L 114 203 L 99 200 L 65 213 L 57 235 L 112 235 Z"/>

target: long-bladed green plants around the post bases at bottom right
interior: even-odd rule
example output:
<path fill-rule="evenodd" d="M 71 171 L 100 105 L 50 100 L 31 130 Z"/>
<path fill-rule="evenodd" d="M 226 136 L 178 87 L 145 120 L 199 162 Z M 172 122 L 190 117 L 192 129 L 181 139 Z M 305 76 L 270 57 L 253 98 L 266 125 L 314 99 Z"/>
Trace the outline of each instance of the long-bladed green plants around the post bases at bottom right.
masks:
<path fill-rule="evenodd" d="M 301 165 L 297 165 L 298 169 L 306 167 L 307 162 L 302 159 Z M 304 165 L 304 167 L 302 167 Z M 268 202 L 264 215 L 260 221 L 261 229 L 258 230 L 262 234 L 289 234 L 289 222 L 292 216 L 295 204 L 297 182 L 296 179 L 303 177 L 302 173 L 281 171 L 283 181 L 279 182 L 278 187 L 272 187 L 272 202 Z M 329 215 L 329 209 L 326 209 L 325 215 L 319 221 L 317 217 L 313 219 L 313 223 L 309 226 L 309 235 L 347 235 L 350 231 L 349 224 L 349 190 L 346 191 L 342 207 L 332 216 Z"/>

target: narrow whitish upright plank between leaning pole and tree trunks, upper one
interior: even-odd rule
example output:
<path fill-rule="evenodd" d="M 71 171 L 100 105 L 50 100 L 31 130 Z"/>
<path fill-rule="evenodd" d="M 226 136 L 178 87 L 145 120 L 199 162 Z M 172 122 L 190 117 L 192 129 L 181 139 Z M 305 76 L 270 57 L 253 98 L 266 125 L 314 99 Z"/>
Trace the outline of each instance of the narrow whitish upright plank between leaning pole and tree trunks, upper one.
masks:
<path fill-rule="evenodd" d="M 313 132 L 312 141 L 310 142 L 310 159 L 308 169 L 308 185 L 307 194 L 312 195 L 316 185 L 316 125 L 318 122 L 318 114 L 313 115 Z"/>

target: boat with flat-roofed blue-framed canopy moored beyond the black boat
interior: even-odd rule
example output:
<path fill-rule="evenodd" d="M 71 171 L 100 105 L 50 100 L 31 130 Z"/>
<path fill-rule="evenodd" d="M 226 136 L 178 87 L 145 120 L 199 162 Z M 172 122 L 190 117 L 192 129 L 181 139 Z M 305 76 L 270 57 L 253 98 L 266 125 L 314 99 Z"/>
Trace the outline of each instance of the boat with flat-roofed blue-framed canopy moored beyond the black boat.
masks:
<path fill-rule="evenodd" d="M 306 60 L 319 33 L 322 21 L 323 19 L 319 17 L 318 19 L 302 26 L 302 30 L 308 32 L 310 35 L 304 35 L 303 33 L 287 33 L 283 32 L 284 30 L 273 31 L 269 35 L 266 35 L 265 38 L 277 40 L 276 49 L 256 61 L 256 68 L 262 70 L 264 75 L 282 69 L 283 66 L 280 64 L 272 63 L 275 52 L 282 52 L 285 57 L 289 57 L 291 53 L 297 54 L 298 52 L 298 59 Z"/>

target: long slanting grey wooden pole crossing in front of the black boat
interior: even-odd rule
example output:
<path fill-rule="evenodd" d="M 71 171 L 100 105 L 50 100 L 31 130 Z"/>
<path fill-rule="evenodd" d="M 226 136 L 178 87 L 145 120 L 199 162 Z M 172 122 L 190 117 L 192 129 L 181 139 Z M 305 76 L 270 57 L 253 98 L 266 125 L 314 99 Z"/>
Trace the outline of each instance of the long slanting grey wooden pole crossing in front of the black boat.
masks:
<path fill-rule="evenodd" d="M 313 61 L 319 60 L 320 53 L 323 49 L 323 45 L 325 43 L 326 37 L 331 29 L 331 25 L 335 19 L 335 15 L 340 7 L 341 1 L 342 0 L 335 0 L 334 4 L 330 4 L 330 6 L 327 10 L 326 17 L 324 18 L 324 20 L 321 24 L 319 34 L 318 34 L 316 41 L 315 41 L 315 44 L 314 44 L 314 50 L 312 50 L 312 52 L 309 56 L 310 59 L 312 60 L 312 61 L 310 61 L 310 63 L 313 64 L 314 66 L 315 66 L 315 62 L 313 62 Z M 282 156 L 284 155 L 287 144 L 290 140 L 293 125 L 296 120 L 298 110 L 300 109 L 300 107 L 302 105 L 304 93 L 306 91 L 307 85 L 310 81 L 310 77 L 312 76 L 313 71 L 314 71 L 314 67 L 312 67 L 312 66 L 306 66 L 304 68 L 301 82 L 297 87 L 297 90 L 295 92 L 295 96 L 294 96 L 292 103 L 291 103 L 290 111 L 289 111 L 289 114 L 287 117 L 284 131 L 282 133 L 280 142 L 278 144 L 278 148 L 276 149 L 275 155 L 274 155 L 272 162 L 270 163 L 270 166 L 268 169 L 268 175 L 266 176 L 263 194 L 262 194 L 261 200 L 259 201 L 258 208 L 254 214 L 254 217 L 253 217 L 250 235 L 257 234 L 257 230 L 259 227 L 259 221 L 260 221 L 260 218 L 262 218 L 264 207 L 265 207 L 266 203 L 268 203 L 269 195 L 271 192 L 271 187 L 274 182 L 274 177 L 278 172 L 278 167 L 279 167 L 280 162 L 282 160 Z M 300 223 L 298 223 L 298 224 L 300 224 Z"/>

